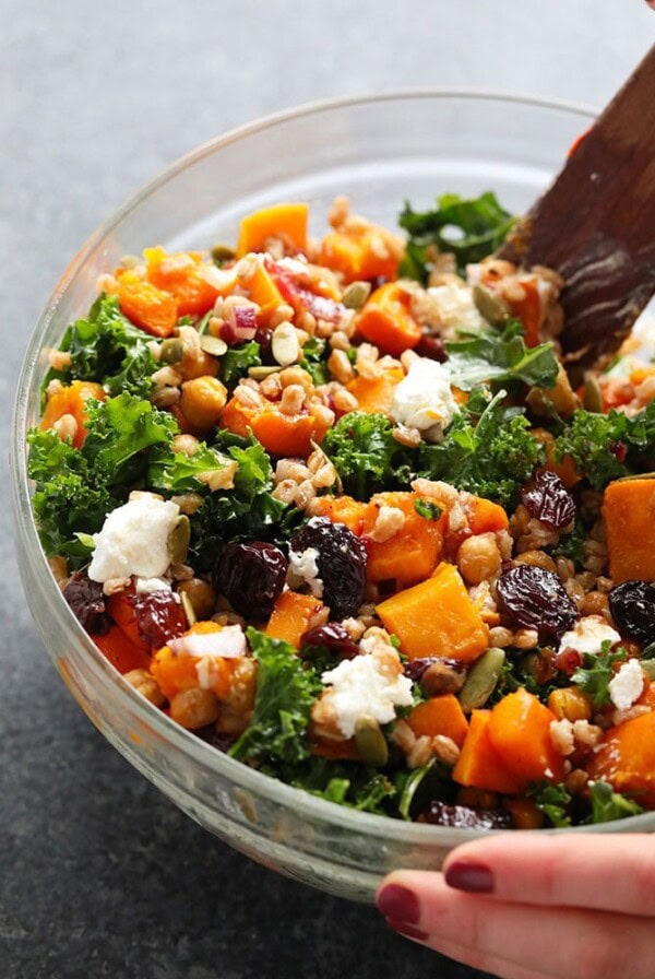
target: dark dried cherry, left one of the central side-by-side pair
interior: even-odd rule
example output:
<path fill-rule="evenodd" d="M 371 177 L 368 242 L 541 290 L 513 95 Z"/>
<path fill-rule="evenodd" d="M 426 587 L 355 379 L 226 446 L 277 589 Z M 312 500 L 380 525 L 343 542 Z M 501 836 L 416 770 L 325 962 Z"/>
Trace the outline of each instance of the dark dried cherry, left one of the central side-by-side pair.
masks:
<path fill-rule="evenodd" d="M 282 593 L 287 567 L 286 557 L 274 544 L 228 544 L 216 563 L 214 581 L 235 612 L 263 622 Z"/>

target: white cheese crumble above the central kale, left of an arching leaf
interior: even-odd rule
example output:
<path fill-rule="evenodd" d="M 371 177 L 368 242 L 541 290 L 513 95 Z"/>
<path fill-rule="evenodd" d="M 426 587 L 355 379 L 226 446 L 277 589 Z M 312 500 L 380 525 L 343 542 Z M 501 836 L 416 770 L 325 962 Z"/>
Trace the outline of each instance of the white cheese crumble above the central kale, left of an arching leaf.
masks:
<path fill-rule="evenodd" d="M 450 377 L 445 364 L 428 357 L 414 361 L 407 376 L 395 387 L 391 405 L 393 420 L 419 432 L 436 425 L 445 428 L 458 411 Z"/>

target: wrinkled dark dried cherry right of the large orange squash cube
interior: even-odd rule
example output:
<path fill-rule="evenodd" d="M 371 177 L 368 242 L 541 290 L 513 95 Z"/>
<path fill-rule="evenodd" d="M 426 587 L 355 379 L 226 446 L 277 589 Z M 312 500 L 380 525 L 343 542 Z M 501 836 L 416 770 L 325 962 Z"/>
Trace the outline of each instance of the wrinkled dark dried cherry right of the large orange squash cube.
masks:
<path fill-rule="evenodd" d="M 559 638 L 576 622 L 577 610 L 552 571 L 520 564 L 498 579 L 503 612 L 520 626 L 537 629 L 539 640 Z"/>

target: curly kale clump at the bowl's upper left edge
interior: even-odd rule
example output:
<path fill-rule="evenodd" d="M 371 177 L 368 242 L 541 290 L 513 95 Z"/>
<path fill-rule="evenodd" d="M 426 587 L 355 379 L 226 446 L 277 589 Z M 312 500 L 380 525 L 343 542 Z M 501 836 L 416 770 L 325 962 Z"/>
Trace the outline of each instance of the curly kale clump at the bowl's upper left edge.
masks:
<path fill-rule="evenodd" d="M 63 384 L 88 380 L 103 385 L 110 396 L 126 391 L 147 397 L 157 369 L 148 349 L 151 342 L 152 337 L 123 316 L 116 296 L 100 295 L 87 319 L 79 319 L 67 329 L 59 349 L 70 354 L 70 366 L 50 369 L 44 388 L 53 378 Z"/>

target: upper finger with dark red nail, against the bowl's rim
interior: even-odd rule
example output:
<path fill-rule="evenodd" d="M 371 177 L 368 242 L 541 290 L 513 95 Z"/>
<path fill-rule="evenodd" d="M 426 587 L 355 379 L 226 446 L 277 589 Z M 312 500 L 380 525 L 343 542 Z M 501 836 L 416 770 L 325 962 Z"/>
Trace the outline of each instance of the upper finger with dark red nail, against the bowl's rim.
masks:
<path fill-rule="evenodd" d="M 514 835 L 457 847 L 443 868 L 451 887 L 522 904 L 655 917 L 655 837 Z"/>

